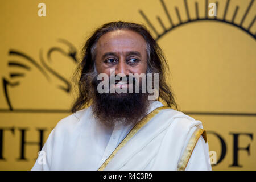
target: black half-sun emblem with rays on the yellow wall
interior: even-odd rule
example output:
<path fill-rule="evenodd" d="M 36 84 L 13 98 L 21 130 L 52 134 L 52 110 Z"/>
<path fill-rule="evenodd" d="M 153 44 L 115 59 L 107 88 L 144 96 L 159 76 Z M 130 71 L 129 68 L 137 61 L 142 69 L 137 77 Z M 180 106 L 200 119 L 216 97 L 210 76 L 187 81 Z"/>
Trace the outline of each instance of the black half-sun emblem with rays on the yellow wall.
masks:
<path fill-rule="evenodd" d="M 210 3 L 217 16 L 209 16 Z M 162 12 L 138 10 L 167 55 L 185 113 L 256 116 L 255 104 L 246 99 L 256 97 L 254 4 L 160 0 Z M 250 106 L 241 109 L 245 101 Z"/>

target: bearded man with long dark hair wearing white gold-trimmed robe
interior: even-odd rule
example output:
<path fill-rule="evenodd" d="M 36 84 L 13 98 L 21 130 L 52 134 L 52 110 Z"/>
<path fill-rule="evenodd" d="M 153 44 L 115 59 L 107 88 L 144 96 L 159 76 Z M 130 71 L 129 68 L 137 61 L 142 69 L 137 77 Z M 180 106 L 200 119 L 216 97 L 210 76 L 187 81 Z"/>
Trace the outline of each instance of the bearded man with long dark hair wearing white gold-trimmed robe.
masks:
<path fill-rule="evenodd" d="M 83 48 L 73 114 L 57 123 L 41 151 L 45 158 L 39 155 L 32 170 L 210 170 L 201 122 L 171 109 L 177 106 L 166 68 L 144 26 L 111 22 L 98 28 Z M 153 73 L 158 79 L 148 81 Z M 136 74 L 146 75 L 147 82 L 127 81 Z M 152 83 L 154 100 L 153 92 L 142 92 Z"/>

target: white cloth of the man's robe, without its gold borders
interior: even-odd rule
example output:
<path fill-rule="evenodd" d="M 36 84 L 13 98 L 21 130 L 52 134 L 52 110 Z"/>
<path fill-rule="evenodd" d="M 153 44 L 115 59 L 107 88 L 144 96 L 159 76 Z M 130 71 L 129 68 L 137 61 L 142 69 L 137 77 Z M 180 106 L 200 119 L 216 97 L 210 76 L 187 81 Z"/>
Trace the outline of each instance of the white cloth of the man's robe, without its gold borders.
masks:
<path fill-rule="evenodd" d="M 154 101 L 149 112 L 163 106 Z M 32 170 L 97 170 L 133 126 L 100 125 L 90 107 L 61 119 Z M 105 170 L 177 170 L 188 140 L 200 121 L 173 109 L 161 110 L 117 152 Z M 185 170 L 211 170 L 208 143 L 201 136 Z"/>

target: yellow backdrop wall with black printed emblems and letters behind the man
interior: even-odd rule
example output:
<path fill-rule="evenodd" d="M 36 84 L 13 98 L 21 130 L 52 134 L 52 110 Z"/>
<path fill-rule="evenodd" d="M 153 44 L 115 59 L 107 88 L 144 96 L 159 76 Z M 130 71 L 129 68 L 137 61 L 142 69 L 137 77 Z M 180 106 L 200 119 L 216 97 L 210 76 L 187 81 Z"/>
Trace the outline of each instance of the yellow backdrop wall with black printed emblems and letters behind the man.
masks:
<path fill-rule="evenodd" d="M 86 38 L 123 20 L 146 24 L 163 48 L 180 110 L 203 122 L 220 160 L 213 170 L 255 170 L 255 12 L 251 0 L 1 1 L 0 169 L 32 168 L 39 141 L 71 114 L 71 77 Z"/>

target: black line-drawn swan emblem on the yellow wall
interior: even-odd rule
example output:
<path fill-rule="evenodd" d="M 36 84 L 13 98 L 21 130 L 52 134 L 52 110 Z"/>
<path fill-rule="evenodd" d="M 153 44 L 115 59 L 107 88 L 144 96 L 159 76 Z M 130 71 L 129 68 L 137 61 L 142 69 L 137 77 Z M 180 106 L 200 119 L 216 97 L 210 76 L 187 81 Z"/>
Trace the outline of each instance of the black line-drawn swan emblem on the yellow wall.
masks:
<path fill-rule="evenodd" d="M 15 49 L 10 49 L 9 56 L 10 60 L 8 61 L 8 66 L 10 68 L 10 74 L 9 78 L 3 77 L 2 78 L 2 84 L 5 94 L 5 99 L 7 102 L 7 105 L 9 107 L 9 111 L 19 111 L 19 110 L 47 110 L 42 107 L 40 107 L 40 101 L 38 102 L 39 109 L 24 109 L 24 108 L 18 108 L 15 109 L 15 105 L 13 102 L 15 100 L 11 100 L 12 96 L 10 95 L 10 89 L 14 89 L 17 86 L 22 85 L 23 82 L 25 82 L 25 77 L 27 75 L 30 75 L 30 72 L 33 72 L 33 74 L 37 74 L 38 79 L 42 78 L 42 80 L 36 80 L 34 85 L 31 86 L 31 90 L 36 90 L 36 87 L 40 87 L 42 81 L 48 82 L 48 86 L 51 85 L 57 90 L 60 91 L 60 93 L 66 94 L 67 96 L 71 93 L 71 79 L 70 76 L 63 76 L 61 73 L 56 71 L 56 68 L 52 68 L 51 64 L 53 64 L 56 60 L 56 55 L 58 56 L 57 61 L 66 61 L 65 64 L 71 64 L 72 66 L 77 65 L 77 50 L 73 44 L 68 42 L 68 40 L 65 39 L 59 39 L 58 42 L 61 44 L 61 46 L 55 46 L 48 49 L 45 57 L 44 52 L 41 49 L 39 51 L 39 61 L 36 61 L 31 56 L 27 55 L 26 53 L 22 51 L 18 51 Z M 69 62 L 67 62 L 69 61 Z M 58 69 L 61 70 L 61 64 L 60 63 Z M 57 69 L 57 70 L 58 70 Z M 15 70 L 15 71 L 12 71 Z M 40 76 L 39 76 L 40 75 Z M 35 77 L 35 75 L 32 77 Z M 53 81 L 55 80 L 55 81 Z M 56 81 L 58 80 L 58 81 Z M 52 85 L 53 84 L 53 85 Z M 41 90 L 41 92 L 45 92 L 45 90 Z M 19 97 L 21 94 L 19 94 Z M 57 96 L 56 96 L 57 97 Z M 22 104 L 22 103 L 21 103 Z M 54 110 L 55 108 L 53 108 Z M 61 111 L 61 110 L 60 110 Z M 68 110 L 62 110 L 62 111 L 68 111 Z"/>

